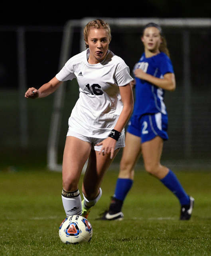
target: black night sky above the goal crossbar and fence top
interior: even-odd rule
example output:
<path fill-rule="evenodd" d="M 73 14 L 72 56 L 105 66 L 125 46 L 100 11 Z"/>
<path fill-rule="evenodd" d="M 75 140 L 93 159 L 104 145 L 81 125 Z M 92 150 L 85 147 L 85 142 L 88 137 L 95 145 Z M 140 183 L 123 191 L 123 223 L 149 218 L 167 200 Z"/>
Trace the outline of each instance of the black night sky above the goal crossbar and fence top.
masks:
<path fill-rule="evenodd" d="M 130 2 L 131 3 L 131 2 Z M 0 25 L 63 26 L 83 17 L 210 18 L 211 1 L 16 1 L 1 6 Z"/>

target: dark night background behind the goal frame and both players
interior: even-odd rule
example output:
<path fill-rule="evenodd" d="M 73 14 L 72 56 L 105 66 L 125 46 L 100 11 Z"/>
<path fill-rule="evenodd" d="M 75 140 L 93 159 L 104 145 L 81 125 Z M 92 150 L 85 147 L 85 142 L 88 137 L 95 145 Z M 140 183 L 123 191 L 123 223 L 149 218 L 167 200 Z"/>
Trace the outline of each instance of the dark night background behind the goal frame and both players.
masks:
<path fill-rule="evenodd" d="M 21 47 L 22 45 L 17 44 L 19 29 L 24 28 L 25 31 L 26 59 L 24 63 L 26 64 L 26 88 L 39 88 L 39 86 L 49 81 L 58 72 L 63 27 L 66 22 L 68 20 L 80 20 L 85 17 L 105 18 L 105 21 L 106 18 L 211 18 L 211 1 L 52 2 L 45 0 L 3 2 L 0 9 L 0 149 L 2 149 L 0 153 L 3 151 L 2 158 L 6 159 L 8 166 L 16 164 L 16 159 L 11 160 L 11 155 L 17 155 L 17 162 L 24 163 L 22 159 L 24 155 L 20 157 L 20 154 L 25 150 L 19 127 L 21 124 L 20 101 L 27 104 L 28 146 L 26 146 L 26 151 L 24 152 L 32 151 L 33 156 L 36 153 L 39 159 L 43 158 L 43 161 L 46 160 L 46 148 L 53 106 L 53 96 L 49 96 L 44 100 L 41 99 L 39 104 L 36 104 L 34 101 L 23 101 L 25 90 L 18 97 L 18 88 L 21 87 L 20 84 L 24 84 L 19 79 L 20 70 L 22 71 L 22 69 L 19 68 L 21 65 L 19 65 L 18 60 L 21 54 L 19 54 L 18 49 L 20 50 L 21 48 L 22 50 L 24 48 Z M 210 29 L 199 28 L 197 34 L 195 34 L 195 30 L 194 33 L 190 34 L 190 50 L 191 53 L 194 53 L 190 55 L 191 99 L 193 98 L 193 102 L 197 99 L 198 102 L 191 105 L 191 122 L 194 124 L 194 129 L 193 131 L 191 130 L 192 134 L 190 135 L 191 157 L 205 158 L 209 155 L 209 159 L 211 103 L 206 95 L 210 95 L 207 90 L 207 85 L 210 84 L 209 74 L 211 65 Z M 166 158 L 179 159 L 186 157 L 185 140 L 183 139 L 185 134 L 182 130 L 183 126 L 179 125 L 185 121 L 185 117 L 181 115 L 185 102 L 183 100 L 183 58 L 181 58 L 183 56 L 183 39 L 181 38 L 182 31 L 180 31 L 180 28 L 169 28 L 169 30 L 168 46 L 172 53 L 171 57 L 176 71 L 177 90 L 167 98 L 168 102 L 166 102 L 169 112 L 172 113 L 170 114 L 172 120 L 170 120 L 171 127 L 169 129 L 171 140 L 170 144 L 166 144 L 164 155 Z M 74 32 L 76 40 L 73 40 L 71 55 L 77 54 L 80 50 L 79 32 L 78 30 Z M 117 33 L 112 32 L 110 47 L 115 54 L 119 54 L 125 60 L 130 70 L 132 70 L 134 63 L 142 53 L 142 48 L 140 47 L 139 34 L 138 37 L 133 34 L 133 38 L 130 38 L 128 34 L 124 32 L 119 36 L 120 34 L 117 35 Z M 119 44 L 115 43 L 115 38 L 117 37 L 118 42 L 120 42 Z M 18 48 L 17 45 L 20 47 Z M 128 51 L 124 50 L 124 45 L 128 47 Z M 200 90 L 198 89 L 198 84 L 200 84 Z M 209 86 L 209 88 L 211 87 Z M 78 88 L 77 86 L 71 86 L 71 88 L 67 86 L 66 92 L 67 98 L 65 98 L 65 111 L 62 116 L 62 130 L 60 133 L 62 135 L 66 134 L 67 118 L 75 102 Z M 199 92 L 201 93 L 200 95 Z M 177 104 L 177 98 L 181 99 L 179 104 Z M 174 109 L 175 105 L 177 105 L 177 112 Z M 198 107 L 198 105 L 200 106 Z M 206 114 L 206 116 L 203 116 L 203 120 L 207 120 L 207 122 L 203 123 L 202 119 L 199 120 L 198 117 L 201 118 L 200 111 Z M 204 132 L 199 133 L 198 130 L 201 129 L 202 123 L 206 129 Z M 59 141 L 61 154 L 65 143 L 64 140 L 65 136 L 61 136 Z M 8 154 L 7 150 L 14 150 L 15 154 Z M 20 154 L 17 154 L 17 152 L 20 152 Z"/>

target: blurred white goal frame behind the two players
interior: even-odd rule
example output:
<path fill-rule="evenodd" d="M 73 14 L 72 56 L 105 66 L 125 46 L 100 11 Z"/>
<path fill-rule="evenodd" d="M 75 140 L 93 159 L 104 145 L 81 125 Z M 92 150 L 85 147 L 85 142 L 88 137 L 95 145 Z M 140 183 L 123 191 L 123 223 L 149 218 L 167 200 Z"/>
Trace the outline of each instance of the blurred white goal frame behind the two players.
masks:
<path fill-rule="evenodd" d="M 81 28 L 81 42 L 80 48 L 81 51 L 85 50 L 85 43 L 83 39 L 83 28 L 85 25 L 95 18 L 83 18 L 81 20 L 69 20 L 63 29 L 63 39 L 61 45 L 61 53 L 59 60 L 59 70 L 64 66 L 65 62 L 69 58 L 69 52 L 71 51 L 72 42 L 73 42 L 73 30 L 76 27 Z M 141 28 L 148 22 L 156 22 L 162 27 L 170 28 L 211 28 L 211 19 L 210 18 L 102 18 L 105 20 L 112 28 Z M 114 29 L 112 28 L 112 32 Z M 189 38 L 188 34 L 183 36 L 183 52 L 188 52 L 189 49 Z M 184 84 L 186 86 L 185 90 L 187 92 L 187 97 L 190 90 L 190 77 L 189 77 L 189 55 L 185 54 L 185 69 L 184 71 Z M 51 124 L 49 130 L 49 139 L 47 145 L 47 166 L 49 170 L 61 171 L 61 165 L 58 164 L 58 142 L 60 134 L 60 125 L 61 117 L 63 112 L 64 104 L 64 95 L 65 95 L 65 83 L 63 86 L 55 92 L 55 98 L 53 100 L 53 110 L 51 116 Z M 186 111 L 188 112 L 188 100 L 187 105 L 185 106 Z M 185 110 L 184 110 L 185 111 Z M 187 114 L 186 122 L 190 122 L 190 117 Z M 190 126 L 189 126 L 190 127 Z M 189 133 L 190 134 L 190 133 Z M 188 141 L 187 141 L 187 151 L 188 151 Z M 187 152 L 188 154 L 188 152 Z"/>

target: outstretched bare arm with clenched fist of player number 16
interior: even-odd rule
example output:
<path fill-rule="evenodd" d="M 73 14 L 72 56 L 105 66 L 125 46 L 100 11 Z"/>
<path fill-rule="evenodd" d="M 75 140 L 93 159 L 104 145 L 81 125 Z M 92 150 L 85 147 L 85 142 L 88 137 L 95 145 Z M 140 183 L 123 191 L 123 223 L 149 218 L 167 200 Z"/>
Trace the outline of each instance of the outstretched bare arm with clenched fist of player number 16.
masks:
<path fill-rule="evenodd" d="M 55 92 L 57 88 L 61 85 L 61 81 L 59 81 L 56 77 L 51 79 L 46 84 L 43 84 L 38 90 L 34 87 L 29 88 L 27 92 L 25 93 L 25 98 L 44 98 L 51 93 Z"/>

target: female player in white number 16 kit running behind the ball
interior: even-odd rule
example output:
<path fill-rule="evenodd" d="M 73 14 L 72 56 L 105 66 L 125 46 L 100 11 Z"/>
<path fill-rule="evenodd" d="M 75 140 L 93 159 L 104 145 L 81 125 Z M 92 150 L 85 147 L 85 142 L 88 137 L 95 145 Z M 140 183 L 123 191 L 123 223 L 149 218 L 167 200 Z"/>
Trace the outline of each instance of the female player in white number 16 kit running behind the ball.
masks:
<path fill-rule="evenodd" d="M 43 98 L 55 92 L 63 81 L 77 79 L 79 99 L 69 118 L 62 167 L 62 201 L 67 216 L 83 215 L 102 194 L 103 176 L 124 147 L 124 126 L 133 110 L 130 82 L 133 78 L 125 62 L 108 46 L 109 25 L 100 19 L 84 28 L 87 50 L 70 58 L 61 71 L 38 90 L 29 88 L 26 98 Z M 82 192 L 78 188 L 81 171 L 88 160 Z"/>

